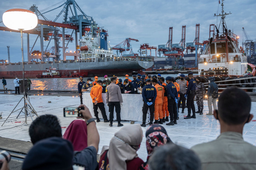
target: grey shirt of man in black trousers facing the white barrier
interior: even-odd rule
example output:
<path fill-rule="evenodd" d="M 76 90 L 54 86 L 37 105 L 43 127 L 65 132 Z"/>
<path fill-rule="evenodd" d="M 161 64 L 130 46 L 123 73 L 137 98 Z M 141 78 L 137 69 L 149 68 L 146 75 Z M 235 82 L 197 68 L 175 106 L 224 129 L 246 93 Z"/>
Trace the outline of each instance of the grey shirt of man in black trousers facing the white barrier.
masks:
<path fill-rule="evenodd" d="M 110 83 L 110 85 L 106 87 L 106 90 L 106 103 L 109 103 L 109 101 L 120 101 L 120 103 L 123 102 L 119 85 Z"/>

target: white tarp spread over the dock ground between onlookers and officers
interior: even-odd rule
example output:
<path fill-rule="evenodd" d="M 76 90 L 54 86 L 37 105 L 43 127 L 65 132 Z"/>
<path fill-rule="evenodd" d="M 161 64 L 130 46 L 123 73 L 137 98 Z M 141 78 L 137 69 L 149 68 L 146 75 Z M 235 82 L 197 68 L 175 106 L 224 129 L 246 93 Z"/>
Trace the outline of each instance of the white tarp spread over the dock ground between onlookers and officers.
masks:
<path fill-rule="evenodd" d="M 125 94 L 126 95 L 126 94 Z M 0 94 L 0 112 L 3 112 L 3 119 L 0 119 L 0 136 L 5 138 L 30 141 L 28 129 L 30 124 L 32 123 L 31 118 L 28 117 L 28 124 L 24 124 L 25 118 L 24 113 L 16 119 L 16 116 L 19 112 L 13 113 L 9 119 L 6 121 L 4 126 L 1 126 L 10 112 L 14 109 L 18 101 L 23 97 L 23 95 L 4 95 Z M 32 106 L 37 111 L 38 115 L 44 114 L 53 114 L 56 115 L 60 121 L 60 125 L 62 128 L 62 135 L 65 133 L 69 124 L 76 120 L 75 117 L 63 117 L 63 107 L 78 107 L 80 104 L 79 96 L 30 96 L 30 102 Z M 48 103 L 51 101 L 51 103 Z M 24 104 L 24 103 L 23 103 Z M 18 108 L 23 107 L 23 104 L 19 104 Z M 136 105 L 137 103 L 135 103 Z M 90 105 L 92 103 L 90 102 Z M 195 102 L 196 105 L 196 102 Z M 197 107 L 196 107 L 197 108 Z M 180 109 L 181 111 L 181 109 Z M 177 125 L 175 126 L 167 126 L 164 123 L 162 126 L 166 129 L 166 132 L 170 139 L 177 143 L 178 145 L 184 146 L 186 148 L 191 148 L 192 146 L 209 142 L 211 140 L 216 139 L 220 134 L 220 124 L 214 116 L 206 115 L 208 113 L 207 101 L 204 100 L 204 111 L 203 115 L 196 114 L 196 119 L 183 119 L 187 115 L 187 109 L 185 109 L 185 113 L 179 113 L 179 120 L 177 120 Z M 254 115 L 252 121 L 246 123 L 243 128 L 243 139 L 252 145 L 256 146 L 256 102 L 252 102 L 251 105 L 251 114 Z M 35 117 L 33 117 L 35 118 Z M 103 119 L 101 119 L 103 120 Z M 135 123 L 141 123 L 142 120 Z M 121 121 L 124 126 L 129 125 L 130 121 Z M 20 125 L 20 126 L 18 126 Z M 100 135 L 100 143 L 99 143 L 99 151 L 100 154 L 101 149 L 104 145 L 109 145 L 111 138 L 114 134 L 121 128 L 117 127 L 117 122 L 113 123 L 113 127 L 109 127 L 109 123 L 104 123 L 103 121 L 96 123 L 99 135 Z M 147 149 L 146 149 L 146 127 L 142 127 L 143 130 L 143 138 L 141 142 L 141 147 L 137 151 L 138 156 L 146 161 L 147 159 Z M 0 138 L 1 140 L 1 138 Z"/>

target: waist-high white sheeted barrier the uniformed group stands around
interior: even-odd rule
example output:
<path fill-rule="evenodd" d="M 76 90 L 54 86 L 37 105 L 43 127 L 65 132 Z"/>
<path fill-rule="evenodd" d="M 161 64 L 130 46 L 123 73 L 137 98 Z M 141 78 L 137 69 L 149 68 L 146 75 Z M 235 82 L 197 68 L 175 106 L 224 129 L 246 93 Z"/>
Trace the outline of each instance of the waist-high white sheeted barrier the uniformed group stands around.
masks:
<path fill-rule="evenodd" d="M 122 94 L 123 98 L 123 106 L 121 107 L 121 120 L 127 121 L 142 121 L 142 95 L 138 94 Z M 109 119 L 109 107 L 106 104 L 106 94 L 102 93 L 102 100 L 105 105 L 106 115 Z M 92 116 L 94 116 L 93 112 L 93 103 L 90 93 L 83 93 L 83 103 L 89 108 Z M 101 111 L 98 108 L 99 118 L 102 118 Z M 149 121 L 149 109 L 147 113 L 146 121 Z M 116 120 L 116 112 L 114 111 L 114 120 Z"/>

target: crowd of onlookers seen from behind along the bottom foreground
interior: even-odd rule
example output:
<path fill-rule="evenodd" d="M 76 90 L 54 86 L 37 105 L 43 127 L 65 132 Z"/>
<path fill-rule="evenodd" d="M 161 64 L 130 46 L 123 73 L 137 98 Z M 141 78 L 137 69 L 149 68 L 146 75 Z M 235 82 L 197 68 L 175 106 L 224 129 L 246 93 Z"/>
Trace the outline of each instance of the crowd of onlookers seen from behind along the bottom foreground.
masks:
<path fill-rule="evenodd" d="M 172 135 L 159 124 L 149 126 L 146 134 L 140 124 L 133 124 L 116 132 L 97 159 L 100 136 L 90 111 L 83 107 L 82 117 L 71 122 L 63 136 L 54 115 L 39 116 L 30 125 L 29 135 L 34 146 L 23 162 L 23 170 L 256 169 L 256 147 L 242 137 L 244 125 L 253 117 L 251 99 L 241 89 L 226 89 L 219 97 L 218 110 L 213 114 L 220 123 L 219 137 L 191 149 L 173 143 Z M 143 136 L 146 138 L 146 162 L 136 153 L 140 147 L 145 147 L 141 146 Z M 4 162 L 1 170 L 8 169 L 7 166 Z"/>

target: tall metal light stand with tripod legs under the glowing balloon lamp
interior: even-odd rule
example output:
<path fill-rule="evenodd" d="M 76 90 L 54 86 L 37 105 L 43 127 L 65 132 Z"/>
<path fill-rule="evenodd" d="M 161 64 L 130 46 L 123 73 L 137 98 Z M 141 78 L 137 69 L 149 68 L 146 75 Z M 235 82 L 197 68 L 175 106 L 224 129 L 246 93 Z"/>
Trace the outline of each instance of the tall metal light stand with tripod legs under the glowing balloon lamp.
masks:
<path fill-rule="evenodd" d="M 24 54 L 23 54 L 23 29 L 19 29 L 20 30 L 20 34 L 21 34 L 21 51 L 22 51 L 22 65 L 23 65 L 23 94 L 24 96 L 20 99 L 20 101 L 18 102 L 18 104 L 15 106 L 15 108 L 19 105 L 19 103 L 22 101 L 22 99 L 24 99 L 24 106 L 18 110 L 20 110 L 18 116 L 20 115 L 21 112 L 23 112 L 22 110 L 24 109 L 25 113 L 25 123 L 27 124 L 27 115 L 30 115 L 32 121 L 32 111 L 33 113 L 36 114 L 36 116 L 38 117 L 38 114 L 36 113 L 35 109 L 32 107 L 31 103 L 29 102 L 29 100 L 27 99 L 27 94 L 25 92 L 25 71 L 24 71 Z M 10 115 L 18 110 L 15 110 L 15 108 L 13 109 L 13 111 L 9 114 L 9 116 L 6 118 L 6 120 L 4 121 L 4 123 L 7 121 L 7 119 L 10 117 Z M 15 110 L 15 111 L 14 111 Z M 17 116 L 17 118 L 18 118 Z M 4 125 L 4 123 L 2 124 L 2 126 Z"/>

